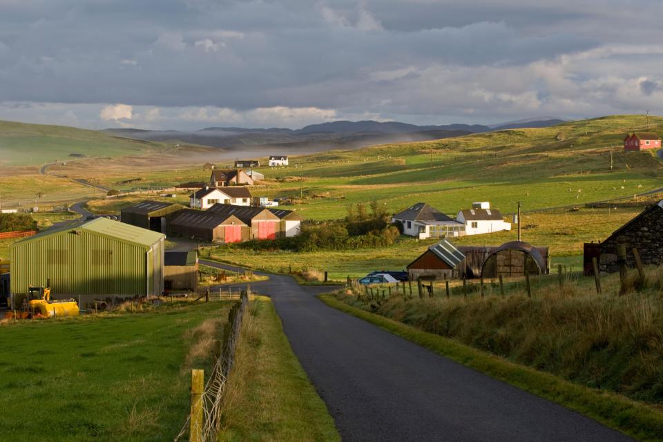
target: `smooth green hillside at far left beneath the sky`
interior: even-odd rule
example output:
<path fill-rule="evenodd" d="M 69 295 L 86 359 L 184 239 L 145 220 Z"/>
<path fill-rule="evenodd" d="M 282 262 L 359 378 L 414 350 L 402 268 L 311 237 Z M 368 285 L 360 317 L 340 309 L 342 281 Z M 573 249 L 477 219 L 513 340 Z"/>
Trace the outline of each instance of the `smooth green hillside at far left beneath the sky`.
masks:
<path fill-rule="evenodd" d="M 114 137 L 99 131 L 0 121 L 0 165 L 29 166 L 86 157 L 120 157 L 165 148 L 161 143 Z"/>

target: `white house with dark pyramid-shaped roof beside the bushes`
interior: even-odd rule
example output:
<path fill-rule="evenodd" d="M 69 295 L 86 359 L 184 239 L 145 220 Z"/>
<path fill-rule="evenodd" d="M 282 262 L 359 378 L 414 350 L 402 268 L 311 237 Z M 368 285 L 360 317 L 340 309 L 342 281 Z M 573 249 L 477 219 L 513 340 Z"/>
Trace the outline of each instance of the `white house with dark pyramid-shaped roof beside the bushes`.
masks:
<path fill-rule="evenodd" d="M 452 220 L 425 202 L 418 202 L 392 216 L 392 222 L 403 224 L 403 234 L 423 240 L 465 235 L 465 226 Z"/>

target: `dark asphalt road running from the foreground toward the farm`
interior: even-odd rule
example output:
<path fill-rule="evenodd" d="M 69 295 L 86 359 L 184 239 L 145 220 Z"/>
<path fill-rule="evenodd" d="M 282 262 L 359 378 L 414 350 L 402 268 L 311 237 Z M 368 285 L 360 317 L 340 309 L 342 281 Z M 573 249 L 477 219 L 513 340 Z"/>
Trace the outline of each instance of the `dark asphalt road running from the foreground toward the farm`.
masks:
<path fill-rule="evenodd" d="M 329 287 L 300 286 L 289 276 L 269 277 L 251 287 L 271 297 L 343 441 L 631 440 L 327 307 L 314 294 Z"/>

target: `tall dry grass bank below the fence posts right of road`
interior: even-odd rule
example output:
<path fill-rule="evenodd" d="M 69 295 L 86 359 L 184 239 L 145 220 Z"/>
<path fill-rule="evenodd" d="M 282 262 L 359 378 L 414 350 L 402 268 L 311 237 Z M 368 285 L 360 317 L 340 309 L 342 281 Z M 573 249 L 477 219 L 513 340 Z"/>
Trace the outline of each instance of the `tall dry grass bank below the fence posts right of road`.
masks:
<path fill-rule="evenodd" d="M 590 278 L 570 278 L 561 290 L 550 278 L 532 298 L 521 285 L 505 297 L 378 303 L 348 290 L 337 298 L 575 383 L 663 405 L 663 269 L 647 269 L 644 284 L 634 275 L 624 296 L 609 276 L 602 296 Z"/>

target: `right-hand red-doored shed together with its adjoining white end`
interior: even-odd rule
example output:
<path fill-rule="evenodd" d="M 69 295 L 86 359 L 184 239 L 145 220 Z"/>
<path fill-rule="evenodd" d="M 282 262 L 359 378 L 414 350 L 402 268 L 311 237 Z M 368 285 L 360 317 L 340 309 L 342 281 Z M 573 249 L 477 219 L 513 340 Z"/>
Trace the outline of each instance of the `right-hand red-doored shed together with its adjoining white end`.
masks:
<path fill-rule="evenodd" d="M 251 226 L 251 239 L 274 240 L 296 236 L 300 232 L 301 217 L 289 210 L 264 207 L 238 207 L 231 204 L 215 204 L 208 212 L 235 215 Z"/>

